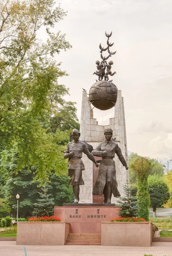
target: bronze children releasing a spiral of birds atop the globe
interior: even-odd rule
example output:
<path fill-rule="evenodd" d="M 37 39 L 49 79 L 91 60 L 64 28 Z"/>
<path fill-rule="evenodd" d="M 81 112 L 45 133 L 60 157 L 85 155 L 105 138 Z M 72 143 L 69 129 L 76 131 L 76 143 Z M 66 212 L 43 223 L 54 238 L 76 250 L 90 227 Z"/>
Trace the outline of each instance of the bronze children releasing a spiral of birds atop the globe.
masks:
<path fill-rule="evenodd" d="M 100 63 L 100 61 L 96 61 L 95 62 L 97 64 L 97 70 L 96 70 L 96 72 L 93 73 L 93 75 L 95 74 L 95 75 L 97 75 L 99 77 L 98 78 L 99 81 L 100 80 L 102 81 L 103 78 L 104 78 L 105 81 L 108 81 L 109 80 L 108 75 L 114 76 L 116 74 L 116 72 L 112 73 L 112 71 L 111 71 L 111 67 L 112 67 L 113 61 L 109 61 L 109 64 L 107 64 L 107 62 L 106 62 L 106 60 L 109 57 L 111 57 L 112 55 L 114 55 L 116 53 L 116 51 L 115 52 L 110 52 L 110 49 L 109 49 L 114 44 L 114 43 L 112 43 L 112 44 L 109 43 L 109 38 L 111 37 L 112 32 L 110 33 L 110 35 L 105 32 L 105 35 L 108 38 L 108 40 L 107 40 L 107 47 L 104 49 L 101 46 L 101 44 L 99 45 L 100 53 L 101 53 L 100 57 L 101 57 L 102 61 L 101 61 L 101 63 Z M 107 57 L 103 57 L 102 53 L 105 52 L 106 50 L 108 51 L 109 55 Z M 106 67 L 107 67 L 107 72 L 106 72 L 106 75 L 105 75 Z"/>

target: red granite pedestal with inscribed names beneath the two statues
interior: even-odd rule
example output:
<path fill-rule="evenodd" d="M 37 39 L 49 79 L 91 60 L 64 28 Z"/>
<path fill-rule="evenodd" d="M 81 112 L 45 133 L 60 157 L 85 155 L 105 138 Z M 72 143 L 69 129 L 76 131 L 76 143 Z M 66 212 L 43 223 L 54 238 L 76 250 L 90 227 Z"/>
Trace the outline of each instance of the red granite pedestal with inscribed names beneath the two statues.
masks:
<path fill-rule="evenodd" d="M 101 222 L 118 218 L 115 204 L 63 204 L 54 215 L 70 223 L 70 233 L 101 233 Z"/>

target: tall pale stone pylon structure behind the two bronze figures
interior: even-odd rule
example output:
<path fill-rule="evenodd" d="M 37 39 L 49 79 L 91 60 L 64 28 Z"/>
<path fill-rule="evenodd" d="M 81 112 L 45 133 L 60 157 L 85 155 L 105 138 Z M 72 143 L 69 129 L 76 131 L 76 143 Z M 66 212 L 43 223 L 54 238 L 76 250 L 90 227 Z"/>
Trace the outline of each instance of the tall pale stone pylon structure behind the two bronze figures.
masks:
<path fill-rule="evenodd" d="M 118 143 L 122 154 L 128 163 L 126 124 L 121 90 L 118 90 L 118 98 L 114 110 L 114 117 L 109 119 L 109 125 L 98 125 L 97 120 L 93 118 L 93 111 L 89 102 L 89 97 L 87 97 L 86 91 L 83 91 L 80 119 L 80 139 L 86 140 L 86 142 L 91 144 L 95 149 L 97 145 L 104 140 L 104 130 L 106 128 L 111 128 L 113 130 L 113 138 L 116 137 L 115 142 Z M 101 203 L 103 202 L 103 196 L 92 195 L 93 185 L 97 178 L 98 168 L 95 167 L 95 164 L 93 164 L 85 154 L 83 154 L 82 160 L 85 165 L 85 170 L 83 171 L 83 180 L 85 184 L 80 186 L 80 203 Z M 120 195 L 123 195 L 122 186 L 126 183 L 126 180 L 129 180 L 129 172 L 125 169 L 125 167 L 123 167 L 122 163 L 120 163 L 117 155 L 115 155 L 114 160 L 116 166 L 118 190 Z M 112 203 L 115 203 L 116 199 L 117 198 L 114 198 L 112 195 Z"/>

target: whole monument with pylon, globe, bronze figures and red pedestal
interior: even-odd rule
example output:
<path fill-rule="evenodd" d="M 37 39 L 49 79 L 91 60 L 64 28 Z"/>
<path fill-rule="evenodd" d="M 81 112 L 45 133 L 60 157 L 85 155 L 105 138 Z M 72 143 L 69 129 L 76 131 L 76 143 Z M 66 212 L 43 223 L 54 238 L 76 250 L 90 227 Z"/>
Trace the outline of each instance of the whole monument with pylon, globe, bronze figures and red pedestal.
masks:
<path fill-rule="evenodd" d="M 73 186 L 75 202 L 54 207 L 54 215 L 70 223 L 70 233 L 101 233 L 102 221 L 118 217 L 115 198 L 123 195 L 122 186 L 129 180 L 123 98 L 109 80 L 116 74 L 111 70 L 113 61 L 107 63 L 116 53 L 110 51 L 111 35 L 112 32 L 106 34 L 106 48 L 99 46 L 101 61 L 96 61 L 97 70 L 93 73 L 98 80 L 90 88 L 89 97 L 83 90 L 80 132 L 73 130 L 74 141 L 64 152 L 64 157 L 69 158 L 69 185 Z M 106 51 L 107 57 L 103 56 Z M 109 125 L 98 125 L 93 118 L 92 105 L 101 111 L 115 107 Z"/>

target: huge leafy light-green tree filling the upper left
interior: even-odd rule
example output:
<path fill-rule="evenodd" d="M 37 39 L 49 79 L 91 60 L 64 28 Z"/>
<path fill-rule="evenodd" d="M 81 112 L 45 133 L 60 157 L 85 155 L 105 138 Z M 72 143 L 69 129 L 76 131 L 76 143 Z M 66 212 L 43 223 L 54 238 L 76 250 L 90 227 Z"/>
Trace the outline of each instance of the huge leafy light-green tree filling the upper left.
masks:
<path fill-rule="evenodd" d="M 0 145 L 17 154 L 15 172 L 36 166 L 35 179 L 48 180 L 54 169 L 66 169 L 60 123 L 55 134 L 49 132 L 53 116 L 60 119 L 75 104 L 65 102 L 68 93 L 57 79 L 66 75 L 54 55 L 71 46 L 60 32 L 51 28 L 66 13 L 54 0 L 4 0 L 0 2 Z M 38 32 L 46 32 L 41 41 Z M 65 112 L 66 111 L 66 112 Z M 73 119 L 71 126 L 77 122 Z M 67 131 L 69 135 L 69 131 Z M 67 136 L 67 134 L 66 134 Z"/>

